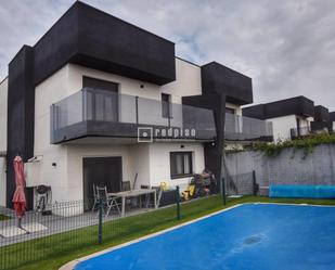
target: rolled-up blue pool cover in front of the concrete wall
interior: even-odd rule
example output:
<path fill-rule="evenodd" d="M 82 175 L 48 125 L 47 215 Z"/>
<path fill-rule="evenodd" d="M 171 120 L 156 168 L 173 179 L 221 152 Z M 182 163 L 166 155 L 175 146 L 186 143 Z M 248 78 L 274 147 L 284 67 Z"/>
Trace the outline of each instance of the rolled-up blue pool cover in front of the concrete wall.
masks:
<path fill-rule="evenodd" d="M 335 198 L 335 185 L 270 185 L 270 197 Z"/>

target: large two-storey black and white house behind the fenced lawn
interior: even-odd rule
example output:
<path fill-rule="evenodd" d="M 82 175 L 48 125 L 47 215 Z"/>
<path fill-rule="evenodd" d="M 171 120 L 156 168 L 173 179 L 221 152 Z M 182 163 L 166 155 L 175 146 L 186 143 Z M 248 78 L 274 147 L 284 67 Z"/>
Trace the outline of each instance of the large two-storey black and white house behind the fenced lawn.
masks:
<path fill-rule="evenodd" d="M 204 169 L 220 179 L 226 111 L 241 115 L 253 88 L 235 70 L 177 57 L 173 42 L 76 1 L 17 52 L 0 98 L 0 197 L 11 206 L 17 154 L 27 190 L 50 185 L 57 202 L 89 201 L 94 183 L 111 192 L 123 181 L 185 185 Z"/>

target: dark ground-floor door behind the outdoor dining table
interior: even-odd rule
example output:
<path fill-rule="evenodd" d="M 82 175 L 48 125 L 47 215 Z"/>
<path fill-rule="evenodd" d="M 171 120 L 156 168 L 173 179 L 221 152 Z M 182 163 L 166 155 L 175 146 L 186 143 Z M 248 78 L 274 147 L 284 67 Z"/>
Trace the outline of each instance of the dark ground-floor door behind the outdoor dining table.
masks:
<path fill-rule="evenodd" d="M 113 157 L 83 158 L 83 203 L 85 210 L 93 206 L 93 184 L 107 187 L 108 192 L 119 192 L 123 179 L 123 159 Z"/>

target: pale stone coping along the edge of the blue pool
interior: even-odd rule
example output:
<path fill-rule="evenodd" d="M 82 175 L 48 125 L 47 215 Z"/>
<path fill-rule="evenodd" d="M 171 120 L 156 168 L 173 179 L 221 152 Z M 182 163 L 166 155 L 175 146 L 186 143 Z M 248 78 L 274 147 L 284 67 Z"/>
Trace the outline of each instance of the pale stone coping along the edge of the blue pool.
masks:
<path fill-rule="evenodd" d="M 201 221 L 201 220 L 203 220 L 203 219 L 206 219 L 206 218 L 209 218 L 209 217 L 219 215 L 219 214 L 221 214 L 221 213 L 223 213 L 223 211 L 228 211 L 228 210 L 231 210 L 231 209 L 233 209 L 233 208 L 241 207 L 241 206 L 243 206 L 243 205 L 261 205 L 261 204 L 268 204 L 268 205 L 291 205 L 291 206 L 335 207 L 334 205 L 289 204 L 289 203 L 266 203 L 266 202 L 255 202 L 255 203 L 236 204 L 236 205 L 233 205 L 233 206 L 231 206 L 231 207 L 228 207 L 228 208 L 224 208 L 224 209 L 221 209 L 221 210 L 218 210 L 218 211 L 215 211 L 215 213 L 205 215 L 205 216 L 203 216 L 203 217 L 199 217 L 199 218 L 196 218 L 196 219 L 192 219 L 192 220 L 186 221 L 186 222 L 184 222 L 184 223 L 177 224 L 177 226 L 173 226 L 173 227 L 164 229 L 164 230 L 162 230 L 162 231 L 159 231 L 159 232 L 151 233 L 151 234 L 141 236 L 141 237 L 139 237 L 139 239 L 131 240 L 131 241 L 128 241 L 128 242 L 126 242 L 126 243 L 116 245 L 116 246 L 107 247 L 107 248 L 105 248 L 105 249 L 103 249 L 103 250 L 100 250 L 100 252 L 96 252 L 96 253 L 87 255 L 87 256 L 81 257 L 81 258 L 79 258 L 79 259 L 74 259 L 74 260 L 72 260 L 72 261 L 69 261 L 69 262 L 67 262 L 67 263 L 65 263 L 65 265 L 63 265 L 59 270 L 74 270 L 75 267 L 76 267 L 79 262 L 82 262 L 82 261 L 86 261 L 86 260 L 88 260 L 88 259 L 91 259 L 91 258 L 94 258 L 94 257 L 104 255 L 104 254 L 106 254 L 106 253 L 114 252 L 114 250 L 116 250 L 116 249 L 119 249 L 119 248 L 123 248 L 123 247 L 126 247 L 126 246 L 129 246 L 129 245 L 139 243 L 139 242 L 144 241 L 144 240 L 147 240 L 147 239 L 155 237 L 155 236 L 157 236 L 157 235 L 167 233 L 167 232 L 169 232 L 169 231 L 173 231 L 173 230 L 176 230 L 176 229 L 179 229 L 179 228 L 182 228 L 182 227 L 192 224 L 192 223 L 195 223 L 195 222 Z"/>

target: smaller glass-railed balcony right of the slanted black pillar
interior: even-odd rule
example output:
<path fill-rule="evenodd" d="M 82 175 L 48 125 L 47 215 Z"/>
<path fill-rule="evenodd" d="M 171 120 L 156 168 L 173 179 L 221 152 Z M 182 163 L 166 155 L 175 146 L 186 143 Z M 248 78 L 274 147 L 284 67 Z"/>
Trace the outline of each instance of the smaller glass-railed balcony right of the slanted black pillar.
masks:
<path fill-rule="evenodd" d="M 227 113 L 224 139 L 227 141 L 273 141 L 272 123 Z"/>

